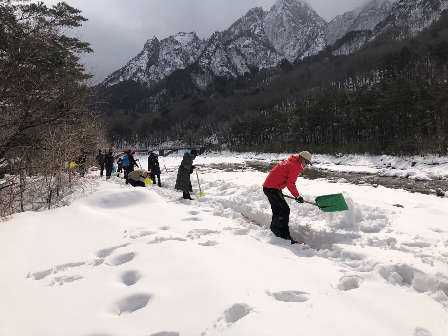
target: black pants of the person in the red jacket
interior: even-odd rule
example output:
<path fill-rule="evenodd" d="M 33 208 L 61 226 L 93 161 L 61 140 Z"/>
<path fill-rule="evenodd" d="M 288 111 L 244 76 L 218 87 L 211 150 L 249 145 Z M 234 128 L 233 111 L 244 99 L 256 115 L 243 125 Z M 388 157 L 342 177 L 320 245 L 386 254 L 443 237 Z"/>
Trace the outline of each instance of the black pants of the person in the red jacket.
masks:
<path fill-rule="evenodd" d="M 289 205 L 286 203 L 280 189 L 263 187 L 263 192 L 269 200 L 272 209 L 271 231 L 277 237 L 289 235 Z"/>

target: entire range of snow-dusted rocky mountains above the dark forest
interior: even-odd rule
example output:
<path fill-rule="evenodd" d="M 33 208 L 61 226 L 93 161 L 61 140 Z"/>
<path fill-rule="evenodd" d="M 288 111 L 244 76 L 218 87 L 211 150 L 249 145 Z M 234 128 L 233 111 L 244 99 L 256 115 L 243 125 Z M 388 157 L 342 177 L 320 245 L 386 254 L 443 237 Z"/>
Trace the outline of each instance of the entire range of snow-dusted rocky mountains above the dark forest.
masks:
<path fill-rule="evenodd" d="M 396 38 L 408 36 L 437 20 L 447 7 L 447 0 L 371 0 L 327 23 L 304 0 L 277 0 L 269 11 L 251 9 L 208 39 L 200 39 L 194 32 L 161 41 L 154 37 L 103 84 L 130 79 L 151 86 L 177 69 L 190 67 L 194 85 L 203 88 L 216 76 L 273 67 L 283 58 L 292 62 L 315 55 L 336 41 L 334 54 L 345 55 L 387 30 L 393 29 Z"/>

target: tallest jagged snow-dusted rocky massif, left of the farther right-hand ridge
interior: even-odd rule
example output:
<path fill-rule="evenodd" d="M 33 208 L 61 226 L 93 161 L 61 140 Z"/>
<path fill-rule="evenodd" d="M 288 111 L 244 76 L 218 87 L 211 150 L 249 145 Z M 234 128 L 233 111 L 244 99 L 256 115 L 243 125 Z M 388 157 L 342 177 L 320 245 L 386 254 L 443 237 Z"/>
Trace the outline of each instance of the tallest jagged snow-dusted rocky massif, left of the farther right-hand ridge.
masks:
<path fill-rule="evenodd" d="M 177 69 L 197 63 L 192 77 L 199 87 L 215 76 L 238 76 L 275 66 L 282 58 L 294 61 L 322 50 L 326 22 L 304 0 L 278 0 L 271 10 L 251 9 L 227 30 L 208 40 L 192 32 L 158 41 L 148 40 L 143 50 L 104 81 L 114 85 L 131 79 L 153 85 Z"/>

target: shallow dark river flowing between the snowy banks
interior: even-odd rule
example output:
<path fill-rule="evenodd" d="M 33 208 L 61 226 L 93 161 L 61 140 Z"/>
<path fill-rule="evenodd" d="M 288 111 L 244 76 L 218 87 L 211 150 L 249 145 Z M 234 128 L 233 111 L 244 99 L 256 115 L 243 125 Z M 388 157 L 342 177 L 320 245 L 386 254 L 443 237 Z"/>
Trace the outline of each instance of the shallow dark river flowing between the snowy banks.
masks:
<path fill-rule="evenodd" d="M 210 167 L 220 170 L 245 170 L 254 169 L 258 171 L 268 172 L 276 166 L 278 162 L 262 162 L 262 161 L 247 161 L 245 164 L 212 164 Z M 419 181 L 396 177 L 383 177 L 369 174 L 356 173 L 335 173 L 327 170 L 320 170 L 313 167 L 306 167 L 305 171 L 300 174 L 305 179 L 328 179 L 336 182 L 338 179 L 346 179 L 354 184 L 360 182 L 376 184 L 393 189 L 405 189 L 411 192 L 420 192 L 422 194 L 431 194 L 431 189 L 441 188 L 444 191 L 448 190 L 448 181 L 434 179 L 431 181 Z"/>

